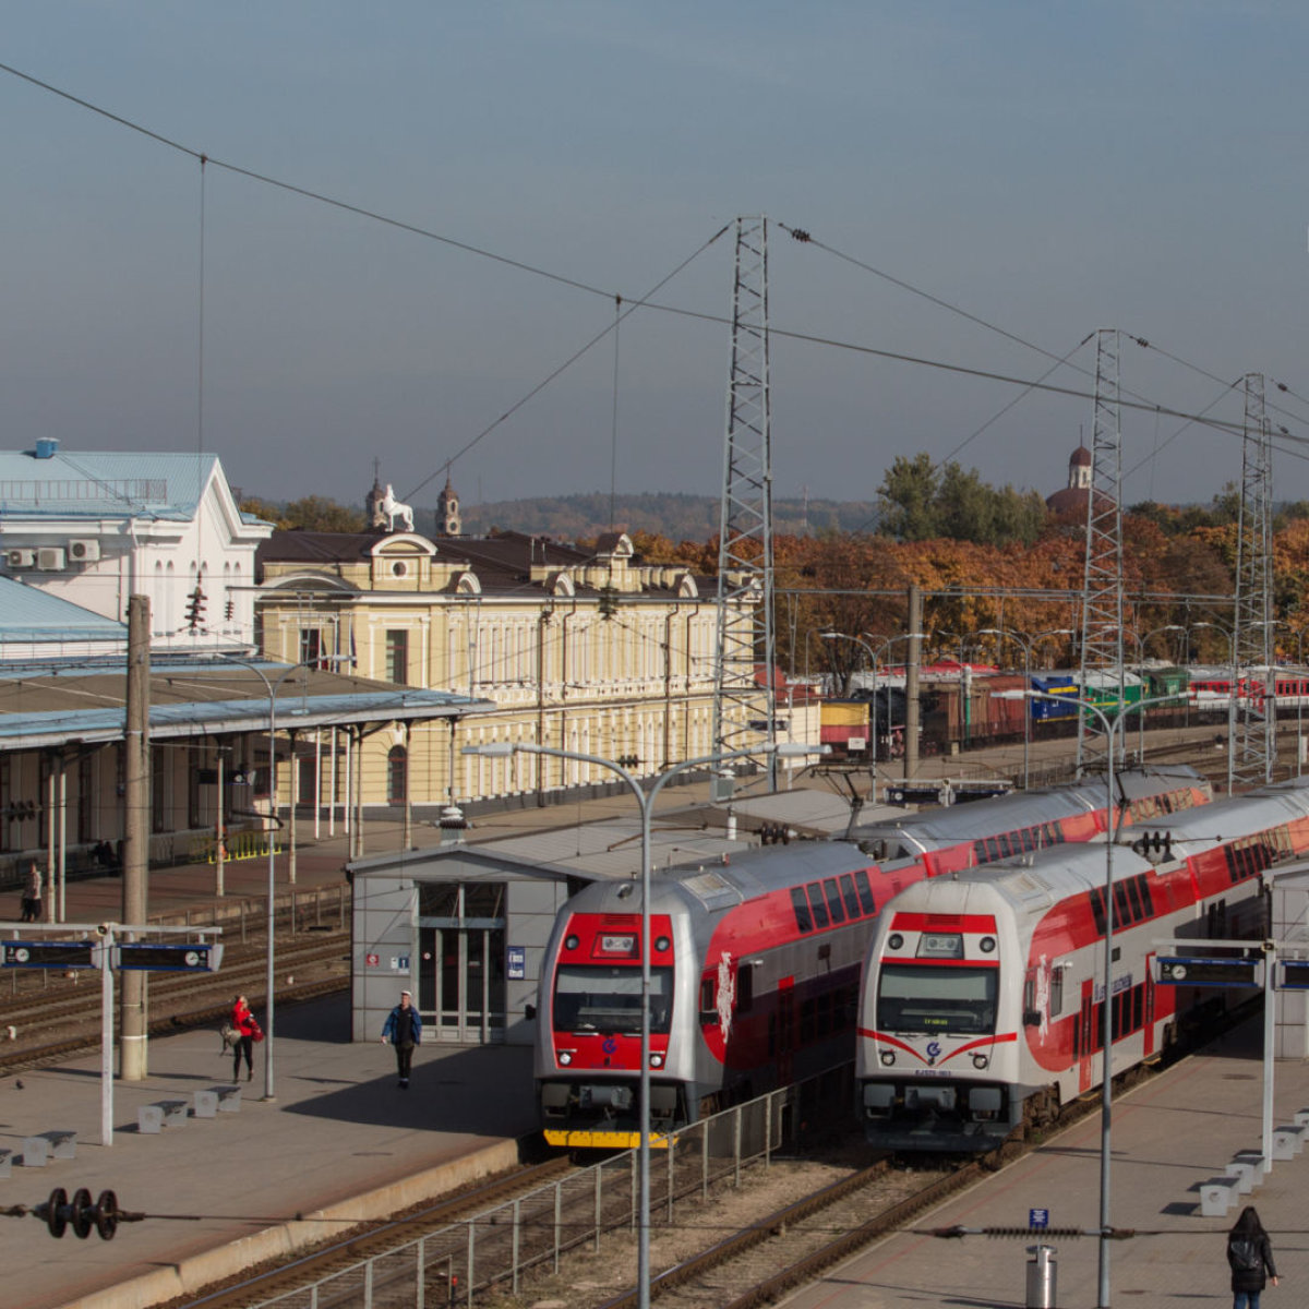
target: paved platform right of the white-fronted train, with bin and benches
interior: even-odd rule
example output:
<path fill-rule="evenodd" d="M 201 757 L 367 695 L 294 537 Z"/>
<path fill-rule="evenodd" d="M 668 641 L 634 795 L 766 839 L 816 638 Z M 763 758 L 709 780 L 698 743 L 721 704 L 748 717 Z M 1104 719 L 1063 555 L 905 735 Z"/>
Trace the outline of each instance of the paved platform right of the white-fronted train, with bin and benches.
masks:
<path fill-rule="evenodd" d="M 1198 1186 L 1221 1175 L 1233 1155 L 1258 1149 L 1262 1132 L 1262 1025 L 1257 1020 L 1148 1084 L 1113 1110 L 1110 1221 L 1158 1232 L 1110 1245 L 1110 1302 L 1230 1305 L 1225 1232 L 1241 1204 L 1254 1204 L 1272 1236 L 1280 1287 L 1266 1309 L 1309 1302 L 1309 1152 L 1278 1162 L 1263 1185 L 1241 1196 L 1225 1219 L 1200 1217 Z M 1276 1126 L 1309 1107 L 1309 1064 L 1279 1060 Z M 1012 1168 L 952 1200 L 922 1228 L 1026 1227 L 1033 1208 L 1050 1224 L 1100 1224 L 1100 1115 L 1085 1119 Z M 1029 1240 L 939 1240 L 901 1234 L 851 1259 L 785 1301 L 787 1309 L 1013 1309 L 1026 1301 Z M 1051 1240 L 1059 1309 L 1097 1304 L 1094 1238 Z"/>

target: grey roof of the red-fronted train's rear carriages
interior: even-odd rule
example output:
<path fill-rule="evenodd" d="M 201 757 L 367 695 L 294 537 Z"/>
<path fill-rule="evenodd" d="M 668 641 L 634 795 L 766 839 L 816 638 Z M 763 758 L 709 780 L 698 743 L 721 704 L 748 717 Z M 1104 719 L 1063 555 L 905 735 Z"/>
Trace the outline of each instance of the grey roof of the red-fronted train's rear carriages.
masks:
<path fill-rule="evenodd" d="M 1194 768 L 1185 764 L 1170 768 L 1126 768 L 1115 774 L 1119 793 L 1128 800 L 1155 796 L 1178 787 L 1203 787 L 1208 783 Z M 924 850 L 953 846 L 973 840 L 980 830 L 986 805 L 986 831 L 1013 831 L 1041 822 L 1054 822 L 1075 813 L 1089 813 L 1105 805 L 1105 784 L 1101 780 L 1083 781 L 1072 787 L 1052 787 L 1049 791 L 1016 792 L 996 800 L 975 801 L 969 805 L 942 805 L 890 822 L 860 823 L 850 833 L 852 840 L 910 838 Z"/>

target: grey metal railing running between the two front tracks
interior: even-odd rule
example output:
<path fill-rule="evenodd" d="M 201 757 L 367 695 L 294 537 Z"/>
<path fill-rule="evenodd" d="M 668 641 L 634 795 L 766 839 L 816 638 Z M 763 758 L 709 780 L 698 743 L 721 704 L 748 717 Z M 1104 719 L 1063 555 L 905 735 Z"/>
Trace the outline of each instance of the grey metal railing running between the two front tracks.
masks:
<path fill-rule="evenodd" d="M 712 1186 L 740 1186 L 746 1169 L 767 1168 L 814 1106 L 836 1098 L 848 1105 L 851 1067 L 840 1064 L 673 1134 L 652 1156 L 652 1223 L 672 1223 L 678 1199 L 707 1199 Z M 384 1288 L 387 1302 L 399 1297 L 415 1309 L 471 1309 L 479 1292 L 517 1295 L 529 1270 L 558 1274 L 568 1250 L 590 1245 L 598 1253 L 605 1233 L 635 1230 L 636 1192 L 636 1151 L 626 1151 L 251 1309 L 374 1309 Z"/>

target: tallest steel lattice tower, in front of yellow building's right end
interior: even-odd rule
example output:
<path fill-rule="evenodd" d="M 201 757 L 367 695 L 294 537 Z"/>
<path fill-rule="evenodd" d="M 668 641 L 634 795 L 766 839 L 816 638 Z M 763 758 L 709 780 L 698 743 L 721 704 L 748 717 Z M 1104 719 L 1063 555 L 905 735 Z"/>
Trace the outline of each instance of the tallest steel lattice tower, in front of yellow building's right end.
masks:
<path fill-rule="evenodd" d="M 732 370 L 723 450 L 713 754 L 761 746 L 776 789 L 772 613 L 772 399 L 768 382 L 768 224 L 737 219 Z M 763 665 L 764 685 L 755 669 Z M 723 796 L 725 798 L 725 796 Z"/>

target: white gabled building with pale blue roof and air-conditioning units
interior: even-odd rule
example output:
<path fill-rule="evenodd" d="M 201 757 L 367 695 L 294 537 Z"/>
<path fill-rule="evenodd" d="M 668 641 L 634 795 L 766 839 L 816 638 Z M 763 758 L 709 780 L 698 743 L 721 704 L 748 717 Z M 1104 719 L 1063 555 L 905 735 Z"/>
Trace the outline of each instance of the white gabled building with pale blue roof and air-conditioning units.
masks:
<path fill-rule="evenodd" d="M 156 648 L 253 645 L 255 550 L 271 533 L 215 454 L 0 450 L 0 576 L 114 622 L 128 596 L 149 596 Z"/>

